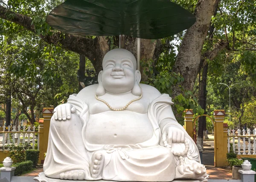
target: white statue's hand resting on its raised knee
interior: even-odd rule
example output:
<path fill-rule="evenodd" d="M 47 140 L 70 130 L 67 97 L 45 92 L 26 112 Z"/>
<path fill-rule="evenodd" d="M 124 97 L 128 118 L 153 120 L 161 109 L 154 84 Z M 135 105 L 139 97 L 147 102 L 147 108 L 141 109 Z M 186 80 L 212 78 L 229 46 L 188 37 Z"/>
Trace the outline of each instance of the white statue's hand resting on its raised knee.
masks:
<path fill-rule="evenodd" d="M 67 104 L 58 105 L 54 109 L 53 115 L 55 120 L 66 121 L 67 119 L 71 118 L 71 113 L 75 113 L 75 112 L 76 112 L 76 108 L 72 104 L 67 103 Z"/>

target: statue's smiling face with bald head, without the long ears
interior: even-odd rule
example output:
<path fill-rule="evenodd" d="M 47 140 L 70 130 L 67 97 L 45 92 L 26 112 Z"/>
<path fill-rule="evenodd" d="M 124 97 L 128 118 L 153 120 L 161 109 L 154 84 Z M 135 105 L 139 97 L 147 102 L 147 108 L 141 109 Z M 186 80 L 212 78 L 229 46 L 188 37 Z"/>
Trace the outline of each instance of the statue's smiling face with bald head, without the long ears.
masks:
<path fill-rule="evenodd" d="M 111 93 L 131 91 L 135 84 L 136 59 L 125 49 L 109 51 L 103 59 L 102 85 Z"/>

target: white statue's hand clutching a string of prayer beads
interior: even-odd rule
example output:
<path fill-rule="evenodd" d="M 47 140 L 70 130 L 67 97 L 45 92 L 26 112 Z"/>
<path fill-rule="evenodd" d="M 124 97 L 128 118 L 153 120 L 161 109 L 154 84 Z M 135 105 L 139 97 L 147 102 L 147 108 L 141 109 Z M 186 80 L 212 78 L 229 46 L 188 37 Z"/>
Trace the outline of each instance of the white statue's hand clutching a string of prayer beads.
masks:
<path fill-rule="evenodd" d="M 168 145 L 172 147 L 172 143 L 184 143 L 184 141 L 184 131 L 176 128 L 175 126 L 169 126 L 163 131 L 162 142 L 165 147 L 167 147 Z"/>

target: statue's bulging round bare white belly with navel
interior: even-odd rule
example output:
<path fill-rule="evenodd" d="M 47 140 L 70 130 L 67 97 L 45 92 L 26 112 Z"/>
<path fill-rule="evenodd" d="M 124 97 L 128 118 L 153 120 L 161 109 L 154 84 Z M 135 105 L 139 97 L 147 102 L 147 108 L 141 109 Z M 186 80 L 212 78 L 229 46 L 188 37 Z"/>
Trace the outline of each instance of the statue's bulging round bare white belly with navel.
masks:
<path fill-rule="evenodd" d="M 85 138 L 91 144 L 137 144 L 152 136 L 153 128 L 148 115 L 132 111 L 91 114 L 85 129 Z"/>

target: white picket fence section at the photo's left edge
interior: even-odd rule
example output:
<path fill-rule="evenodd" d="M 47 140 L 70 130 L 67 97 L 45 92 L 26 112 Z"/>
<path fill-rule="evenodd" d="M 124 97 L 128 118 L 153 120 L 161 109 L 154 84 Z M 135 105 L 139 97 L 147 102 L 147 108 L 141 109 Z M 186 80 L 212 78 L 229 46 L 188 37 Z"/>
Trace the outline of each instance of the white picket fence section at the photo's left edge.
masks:
<path fill-rule="evenodd" d="M 20 131 L 20 126 L 18 126 L 18 131 L 12 130 L 10 131 L 10 126 L 8 127 L 8 131 L 6 130 L 6 127 L 3 126 L 3 131 L 0 132 L 3 134 L 3 139 L 0 139 L 0 147 L 2 150 L 9 150 L 9 145 L 20 145 L 20 143 L 28 143 L 32 145 L 33 149 L 39 150 L 39 127 L 38 131 L 36 131 L 35 126 L 32 128 L 29 126 L 27 129 L 23 127 L 23 131 Z M 32 129 L 32 130 L 31 130 Z M 37 143 L 37 147 L 36 147 Z"/>

